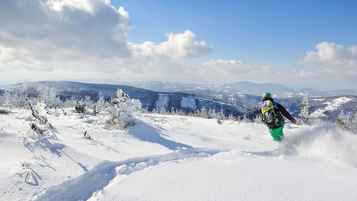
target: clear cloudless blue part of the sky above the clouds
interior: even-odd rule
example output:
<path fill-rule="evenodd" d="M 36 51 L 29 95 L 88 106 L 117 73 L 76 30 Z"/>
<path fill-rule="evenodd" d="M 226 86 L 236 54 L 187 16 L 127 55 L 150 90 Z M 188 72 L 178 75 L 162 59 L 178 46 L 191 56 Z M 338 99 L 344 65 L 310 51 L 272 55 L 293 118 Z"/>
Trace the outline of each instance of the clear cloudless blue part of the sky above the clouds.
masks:
<path fill-rule="evenodd" d="M 357 44 L 357 1 L 111 1 L 130 13 L 134 43 L 191 30 L 214 47 L 202 60 L 293 66 L 322 42 Z"/>

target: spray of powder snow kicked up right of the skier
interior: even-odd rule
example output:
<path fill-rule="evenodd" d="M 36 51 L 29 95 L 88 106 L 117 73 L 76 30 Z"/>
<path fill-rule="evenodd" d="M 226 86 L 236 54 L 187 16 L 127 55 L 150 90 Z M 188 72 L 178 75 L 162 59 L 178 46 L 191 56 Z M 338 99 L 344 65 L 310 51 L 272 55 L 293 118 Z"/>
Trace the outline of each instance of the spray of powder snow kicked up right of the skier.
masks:
<path fill-rule="evenodd" d="M 300 156 L 318 156 L 357 167 L 357 135 L 331 124 L 300 131 L 284 144 L 297 146 Z"/>

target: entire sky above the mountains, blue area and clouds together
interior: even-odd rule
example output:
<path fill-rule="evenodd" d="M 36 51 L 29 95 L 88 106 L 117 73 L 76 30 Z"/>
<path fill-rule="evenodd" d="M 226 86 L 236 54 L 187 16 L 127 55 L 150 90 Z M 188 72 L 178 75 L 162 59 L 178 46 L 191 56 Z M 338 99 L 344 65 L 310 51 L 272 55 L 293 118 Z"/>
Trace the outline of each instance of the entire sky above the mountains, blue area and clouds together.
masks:
<path fill-rule="evenodd" d="M 5 81 L 356 89 L 357 1 L 0 2 Z"/>

